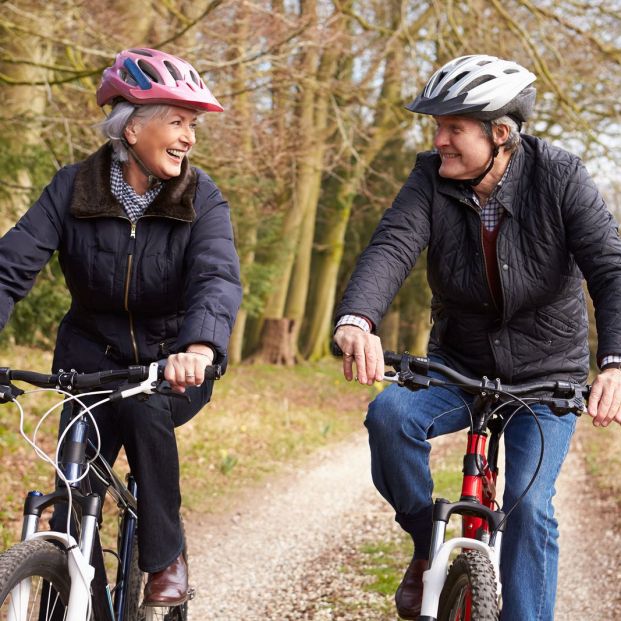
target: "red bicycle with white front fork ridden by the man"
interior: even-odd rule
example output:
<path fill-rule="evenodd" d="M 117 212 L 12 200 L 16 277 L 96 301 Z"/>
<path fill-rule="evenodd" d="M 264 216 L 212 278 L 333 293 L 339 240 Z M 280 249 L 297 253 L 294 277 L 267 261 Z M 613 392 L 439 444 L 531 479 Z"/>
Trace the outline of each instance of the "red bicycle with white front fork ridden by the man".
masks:
<path fill-rule="evenodd" d="M 438 498 L 434 502 L 429 566 L 423 574 L 419 621 L 497 621 L 502 595 L 499 574 L 502 534 L 513 510 L 500 511 L 495 500 L 500 438 L 517 410 L 525 408 L 536 418 L 529 406 L 532 403 L 548 405 L 559 416 L 579 415 L 584 410 L 584 399 L 588 399 L 589 386 L 565 381 L 503 386 L 498 379 L 472 379 L 444 364 L 407 353 L 384 352 L 384 360 L 395 370 L 385 374 L 386 381 L 410 390 L 456 387 L 476 397 L 470 408 L 460 499 L 450 502 Z M 440 373 L 445 379 L 431 377 L 430 371 Z M 505 420 L 500 416 L 501 411 L 511 406 L 517 409 Z M 542 455 L 543 440 L 542 433 Z M 538 471 L 539 466 L 518 503 Z M 446 539 L 447 525 L 454 514 L 461 516 L 462 536 Z M 460 552 L 451 564 L 457 551 Z"/>

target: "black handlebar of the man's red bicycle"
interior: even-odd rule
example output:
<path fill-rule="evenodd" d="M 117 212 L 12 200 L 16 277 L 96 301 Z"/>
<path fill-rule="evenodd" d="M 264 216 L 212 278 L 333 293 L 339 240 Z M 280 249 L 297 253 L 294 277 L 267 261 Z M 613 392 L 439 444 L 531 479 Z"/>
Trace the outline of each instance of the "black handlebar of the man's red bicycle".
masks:
<path fill-rule="evenodd" d="M 502 384 L 499 379 L 487 377 L 474 379 L 447 367 L 433 362 L 423 356 L 384 352 L 386 365 L 395 369 L 395 375 L 387 375 L 385 379 L 394 381 L 410 390 L 419 390 L 429 386 L 457 386 L 471 394 L 495 395 L 498 398 L 533 397 L 548 405 L 557 414 L 580 414 L 584 410 L 584 399 L 588 399 L 590 386 L 583 386 L 563 380 L 547 380 L 524 384 Z M 430 371 L 440 373 L 447 379 L 429 376 Z M 542 396 L 546 393 L 546 396 Z"/>

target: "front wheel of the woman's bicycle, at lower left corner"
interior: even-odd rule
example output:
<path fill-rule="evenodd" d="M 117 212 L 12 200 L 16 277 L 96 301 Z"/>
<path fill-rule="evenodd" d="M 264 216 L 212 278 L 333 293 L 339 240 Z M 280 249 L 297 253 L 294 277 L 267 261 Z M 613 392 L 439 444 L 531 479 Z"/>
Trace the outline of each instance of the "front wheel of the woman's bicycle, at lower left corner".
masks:
<path fill-rule="evenodd" d="M 0 555 L 0 621 L 58 621 L 69 601 L 67 556 L 49 541 L 23 541 Z"/>

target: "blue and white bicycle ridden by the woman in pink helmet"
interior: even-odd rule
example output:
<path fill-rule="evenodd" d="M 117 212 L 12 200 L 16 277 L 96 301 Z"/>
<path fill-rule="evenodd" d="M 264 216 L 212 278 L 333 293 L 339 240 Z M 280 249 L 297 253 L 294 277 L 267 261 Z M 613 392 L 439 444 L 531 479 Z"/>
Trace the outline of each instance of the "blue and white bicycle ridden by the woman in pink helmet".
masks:
<path fill-rule="evenodd" d="M 14 403 L 20 410 L 20 431 L 40 457 L 56 470 L 56 488 L 48 494 L 28 493 L 24 503 L 21 542 L 0 555 L 0 620 L 26 621 L 185 621 L 187 600 L 173 607 L 144 606 L 140 599 L 146 575 L 138 567 L 137 485 L 131 473 L 125 485 L 98 447 L 89 440 L 90 412 L 108 401 L 153 393 L 178 396 L 163 380 L 165 361 L 149 366 L 131 366 L 82 374 L 74 370 L 55 374 L 0 368 L 0 402 Z M 205 379 L 220 377 L 220 367 L 207 367 Z M 18 398 L 26 391 L 13 381 L 22 381 L 65 395 L 72 404 L 69 424 L 58 440 L 51 460 L 30 441 L 23 430 L 24 412 Z M 120 383 L 120 385 L 119 385 Z M 95 390 L 114 384 L 112 389 Z M 89 391 L 89 392 L 85 392 Z M 30 392 L 30 391 L 28 391 Z M 106 394 L 87 407 L 82 398 Z M 35 428 L 34 437 L 45 419 Z M 117 549 L 104 550 L 99 538 L 103 495 L 90 491 L 97 480 L 118 507 Z M 48 507 L 67 506 L 65 532 L 39 530 L 42 512 Z M 104 554 L 116 564 L 115 580 L 108 583 Z"/>

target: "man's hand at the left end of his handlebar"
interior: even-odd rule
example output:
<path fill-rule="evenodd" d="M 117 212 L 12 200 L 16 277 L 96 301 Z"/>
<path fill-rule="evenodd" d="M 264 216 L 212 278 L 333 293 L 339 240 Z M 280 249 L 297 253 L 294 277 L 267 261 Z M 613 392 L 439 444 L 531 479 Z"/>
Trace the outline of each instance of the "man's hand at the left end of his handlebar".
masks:
<path fill-rule="evenodd" d="M 343 352 L 343 374 L 350 381 L 354 377 L 356 363 L 357 379 L 361 384 L 381 382 L 384 378 L 384 350 L 379 337 L 356 326 L 339 326 L 334 342 Z"/>

